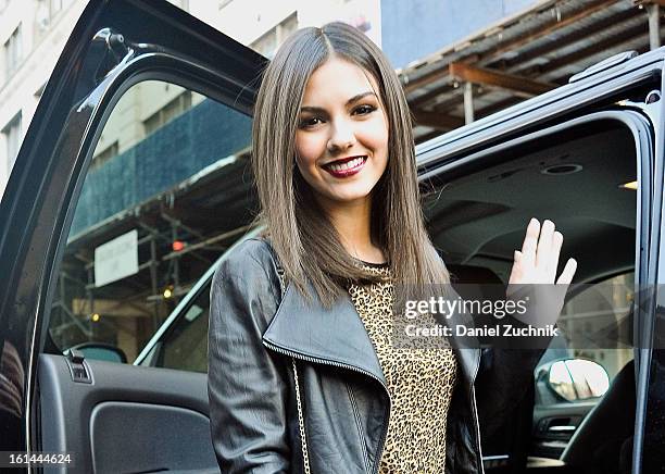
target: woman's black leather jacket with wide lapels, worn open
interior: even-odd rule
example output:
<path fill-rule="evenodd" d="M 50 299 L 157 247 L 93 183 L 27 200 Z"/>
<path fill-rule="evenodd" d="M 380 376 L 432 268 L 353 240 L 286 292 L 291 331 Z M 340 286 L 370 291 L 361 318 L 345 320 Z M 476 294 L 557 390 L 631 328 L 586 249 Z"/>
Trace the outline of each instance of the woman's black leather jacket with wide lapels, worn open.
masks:
<path fill-rule="evenodd" d="M 505 421 L 534 384 L 541 352 L 455 348 L 446 473 L 482 472 L 480 432 Z M 269 244 L 246 240 L 222 261 L 211 289 L 210 415 L 223 473 L 303 472 L 291 358 L 312 473 L 376 473 L 390 400 L 351 299 L 326 311 L 308 307 L 292 286 L 281 298 Z"/>

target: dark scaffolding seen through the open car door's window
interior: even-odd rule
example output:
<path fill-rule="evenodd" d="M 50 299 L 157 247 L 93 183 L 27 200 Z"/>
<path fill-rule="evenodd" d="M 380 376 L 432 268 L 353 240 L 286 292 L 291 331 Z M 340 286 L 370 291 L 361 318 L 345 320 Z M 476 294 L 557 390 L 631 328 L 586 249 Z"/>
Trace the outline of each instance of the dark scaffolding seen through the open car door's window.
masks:
<path fill-rule="evenodd" d="M 221 162 L 68 240 L 51 310 L 57 346 L 101 341 L 120 346 L 131 359 L 199 276 L 250 229 L 255 198 L 246 178 L 247 151 Z M 234 183 L 242 189 L 222 198 L 233 203 L 211 198 L 211 189 L 234 188 Z M 218 205 L 229 213 L 215 212 Z M 95 249 L 133 229 L 138 232 L 138 272 L 97 286 Z"/>

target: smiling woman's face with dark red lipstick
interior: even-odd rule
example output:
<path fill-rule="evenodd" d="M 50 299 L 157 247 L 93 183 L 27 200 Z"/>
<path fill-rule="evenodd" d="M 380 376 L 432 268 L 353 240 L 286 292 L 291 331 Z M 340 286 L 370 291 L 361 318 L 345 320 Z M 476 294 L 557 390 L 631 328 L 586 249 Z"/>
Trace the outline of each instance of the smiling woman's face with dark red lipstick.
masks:
<path fill-rule="evenodd" d="M 388 164 L 388 120 L 378 85 L 355 64 L 331 58 L 306 84 L 297 164 L 321 204 L 368 201 Z"/>

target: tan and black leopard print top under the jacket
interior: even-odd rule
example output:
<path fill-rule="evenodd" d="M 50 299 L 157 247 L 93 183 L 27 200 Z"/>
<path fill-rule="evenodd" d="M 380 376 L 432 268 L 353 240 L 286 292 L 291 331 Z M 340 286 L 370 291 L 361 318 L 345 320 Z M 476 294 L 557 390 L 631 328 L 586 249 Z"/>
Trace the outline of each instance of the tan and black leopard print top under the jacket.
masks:
<path fill-rule="evenodd" d="M 390 276 L 387 264 L 362 263 L 362 266 Z M 429 348 L 391 344 L 390 279 L 351 284 L 348 290 L 376 350 L 391 400 L 379 474 L 444 472 L 448 408 L 457 371 L 450 344 L 444 340 L 441 345 L 439 340 Z"/>

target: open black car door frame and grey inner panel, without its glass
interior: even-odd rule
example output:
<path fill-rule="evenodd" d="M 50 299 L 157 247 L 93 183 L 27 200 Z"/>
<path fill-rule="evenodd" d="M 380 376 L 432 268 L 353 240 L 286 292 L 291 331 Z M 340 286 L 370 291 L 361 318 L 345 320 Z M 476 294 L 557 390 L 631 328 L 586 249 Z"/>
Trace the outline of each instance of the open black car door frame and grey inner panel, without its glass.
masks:
<path fill-rule="evenodd" d="M 77 203 L 86 189 L 104 185 L 84 186 L 92 154 L 124 95 L 148 82 L 187 89 L 223 107 L 247 134 L 264 65 L 260 54 L 166 1 L 88 3 L 43 90 L 0 204 L 4 450 L 71 453 L 50 472 L 217 471 L 204 374 L 47 353 L 48 328 Z M 191 149 L 204 146 L 201 140 Z M 114 198 L 113 190 L 103 192 Z"/>

